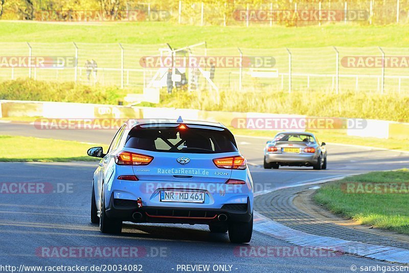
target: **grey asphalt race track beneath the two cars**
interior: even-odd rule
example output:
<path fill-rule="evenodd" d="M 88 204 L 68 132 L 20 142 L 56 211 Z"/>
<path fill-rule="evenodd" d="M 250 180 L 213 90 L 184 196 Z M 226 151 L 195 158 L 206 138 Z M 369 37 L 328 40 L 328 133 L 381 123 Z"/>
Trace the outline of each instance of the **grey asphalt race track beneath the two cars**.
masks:
<path fill-rule="evenodd" d="M 0 123 L 0 135 L 108 143 L 113 134 L 115 132 L 110 130 L 37 130 L 28 124 Z M 266 139 L 236 137 L 236 140 L 240 151 L 251 164 L 256 191 L 374 170 L 399 169 L 407 167 L 409 163 L 409 154 L 328 144 L 328 170 L 314 171 L 311 167 L 264 170 L 261 164 Z M 1 265 L 13 265 L 18 269 L 21 264 L 88 267 L 139 264 L 144 272 L 186 272 L 180 266 L 187 264 L 210 265 L 212 271 L 214 265 L 228 265 L 225 270 L 233 272 L 352 272 L 352 265 L 388 265 L 348 255 L 319 258 L 240 257 L 237 248 L 242 245 L 230 243 L 227 234 L 211 234 L 207 226 L 200 225 L 125 224 L 122 235 L 101 234 L 98 225 L 89 221 L 91 182 L 97 164 L 97 161 L 0 163 L 0 181 L 3 183 L 44 182 L 52 186 L 52 191 L 47 194 L 0 195 Z M 249 245 L 290 246 L 257 231 Z M 47 257 L 52 254 L 47 252 L 50 249 L 96 246 L 137 247 L 139 255 L 138 258 L 128 258 L 126 255 L 121 258 Z M 219 271 L 222 269 L 220 267 Z"/>

